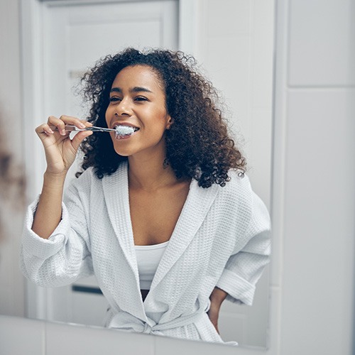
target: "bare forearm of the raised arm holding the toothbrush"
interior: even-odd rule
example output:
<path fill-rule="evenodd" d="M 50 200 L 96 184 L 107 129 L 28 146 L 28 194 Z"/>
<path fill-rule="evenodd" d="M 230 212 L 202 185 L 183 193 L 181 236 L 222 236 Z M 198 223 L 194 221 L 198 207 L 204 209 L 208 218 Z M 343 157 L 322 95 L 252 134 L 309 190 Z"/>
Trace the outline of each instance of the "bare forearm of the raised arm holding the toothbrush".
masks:
<path fill-rule="evenodd" d="M 53 233 L 62 218 L 62 194 L 65 175 L 44 174 L 43 189 L 40 194 L 32 230 L 43 239 Z"/>

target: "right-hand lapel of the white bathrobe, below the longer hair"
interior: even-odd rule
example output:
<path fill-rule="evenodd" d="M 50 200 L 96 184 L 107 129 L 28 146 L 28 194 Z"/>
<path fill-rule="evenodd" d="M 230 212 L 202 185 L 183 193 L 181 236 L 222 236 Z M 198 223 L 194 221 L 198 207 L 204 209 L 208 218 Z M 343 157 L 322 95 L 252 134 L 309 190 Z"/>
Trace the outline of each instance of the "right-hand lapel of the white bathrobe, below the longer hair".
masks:
<path fill-rule="evenodd" d="M 214 184 L 212 187 L 204 189 L 198 186 L 196 180 L 192 180 L 187 200 L 182 208 L 173 234 L 170 237 L 168 247 L 155 272 L 147 298 L 153 297 L 156 286 L 163 280 L 164 276 L 170 271 L 180 256 L 182 256 L 182 253 L 184 253 L 187 246 L 189 246 L 197 234 L 217 196 L 218 187 L 218 185 Z"/>

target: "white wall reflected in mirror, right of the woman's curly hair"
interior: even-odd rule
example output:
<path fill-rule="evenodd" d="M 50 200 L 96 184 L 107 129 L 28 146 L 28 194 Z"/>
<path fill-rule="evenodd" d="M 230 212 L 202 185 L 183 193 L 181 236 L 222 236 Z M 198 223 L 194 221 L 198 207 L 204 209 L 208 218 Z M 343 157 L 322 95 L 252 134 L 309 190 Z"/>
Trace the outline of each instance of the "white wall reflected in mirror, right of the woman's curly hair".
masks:
<path fill-rule="evenodd" d="M 253 189 L 269 207 L 275 0 L 194 2 L 193 54 L 226 104 Z"/>

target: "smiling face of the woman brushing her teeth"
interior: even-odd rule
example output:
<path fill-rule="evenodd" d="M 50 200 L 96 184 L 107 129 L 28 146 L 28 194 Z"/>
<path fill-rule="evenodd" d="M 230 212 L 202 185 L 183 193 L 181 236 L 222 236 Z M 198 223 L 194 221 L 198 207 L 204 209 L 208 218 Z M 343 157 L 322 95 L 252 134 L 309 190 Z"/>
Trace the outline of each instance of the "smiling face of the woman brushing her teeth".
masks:
<path fill-rule="evenodd" d="M 165 108 L 163 83 L 151 67 L 125 67 L 116 75 L 106 121 L 109 128 L 124 125 L 138 129 L 124 138 L 111 133 L 114 150 L 119 155 L 163 153 L 165 156 L 164 132 L 170 126 L 170 116 Z"/>

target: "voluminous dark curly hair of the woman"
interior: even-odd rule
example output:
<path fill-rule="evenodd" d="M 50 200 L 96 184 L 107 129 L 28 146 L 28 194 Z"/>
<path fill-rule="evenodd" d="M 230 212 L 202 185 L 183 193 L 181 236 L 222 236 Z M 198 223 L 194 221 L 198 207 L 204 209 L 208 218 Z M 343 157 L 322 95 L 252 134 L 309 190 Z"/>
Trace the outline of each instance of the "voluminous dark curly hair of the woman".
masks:
<path fill-rule="evenodd" d="M 200 75 L 196 60 L 180 51 L 127 48 L 99 60 L 82 77 L 84 100 L 92 104 L 88 121 L 107 127 L 105 112 L 111 85 L 118 72 L 133 65 L 151 67 L 164 85 L 166 109 L 173 119 L 165 132 L 165 163 L 173 168 L 176 178 L 195 178 L 201 187 L 213 183 L 224 186 L 229 181 L 229 169 L 244 173 L 246 161 L 228 135 L 222 111 L 217 108 L 216 89 Z M 114 173 L 127 160 L 114 151 L 106 134 L 87 137 L 81 149 L 82 170 L 92 166 L 98 178 Z"/>

